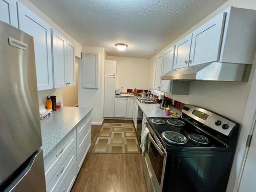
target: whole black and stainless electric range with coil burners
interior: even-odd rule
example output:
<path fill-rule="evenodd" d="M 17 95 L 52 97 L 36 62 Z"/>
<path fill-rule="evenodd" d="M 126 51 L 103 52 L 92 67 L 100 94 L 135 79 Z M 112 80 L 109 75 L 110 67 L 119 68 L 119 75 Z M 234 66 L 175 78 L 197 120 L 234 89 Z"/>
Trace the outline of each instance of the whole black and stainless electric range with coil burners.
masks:
<path fill-rule="evenodd" d="M 144 175 L 155 191 L 225 191 L 239 124 L 186 104 L 181 118 L 147 118 Z M 148 184 L 147 184 L 148 185 Z M 150 186 L 148 186 L 150 187 Z"/>

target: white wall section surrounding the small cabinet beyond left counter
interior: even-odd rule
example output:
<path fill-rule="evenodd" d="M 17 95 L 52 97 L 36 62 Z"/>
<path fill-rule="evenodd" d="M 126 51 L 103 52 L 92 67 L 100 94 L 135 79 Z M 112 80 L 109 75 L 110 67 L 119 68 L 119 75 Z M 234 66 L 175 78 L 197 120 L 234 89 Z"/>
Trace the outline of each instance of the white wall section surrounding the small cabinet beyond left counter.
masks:
<path fill-rule="evenodd" d="M 92 111 L 92 123 L 98 124 L 103 120 L 103 100 L 104 100 L 104 87 L 103 87 L 103 71 L 104 61 L 106 58 L 105 50 L 102 47 L 89 47 L 83 46 L 82 52 L 98 53 L 99 62 L 99 88 L 87 89 L 82 88 L 82 65 L 81 59 L 78 61 L 78 106 L 79 107 L 91 107 Z"/>

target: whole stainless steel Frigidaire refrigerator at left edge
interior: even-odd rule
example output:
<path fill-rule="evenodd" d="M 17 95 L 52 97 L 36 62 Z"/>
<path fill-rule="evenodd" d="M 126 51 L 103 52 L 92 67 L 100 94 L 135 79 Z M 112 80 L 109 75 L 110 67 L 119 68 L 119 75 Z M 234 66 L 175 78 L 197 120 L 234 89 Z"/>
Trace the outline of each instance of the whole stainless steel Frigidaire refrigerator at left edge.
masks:
<path fill-rule="evenodd" d="M 0 191 L 46 191 L 33 37 L 0 20 Z"/>

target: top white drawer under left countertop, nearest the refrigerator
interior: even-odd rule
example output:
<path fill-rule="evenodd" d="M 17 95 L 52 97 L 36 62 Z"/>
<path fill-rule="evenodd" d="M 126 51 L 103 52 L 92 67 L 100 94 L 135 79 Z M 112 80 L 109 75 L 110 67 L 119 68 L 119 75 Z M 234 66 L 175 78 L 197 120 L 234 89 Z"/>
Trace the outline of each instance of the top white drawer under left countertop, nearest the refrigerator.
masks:
<path fill-rule="evenodd" d="M 75 132 L 73 131 L 70 136 L 65 139 L 62 143 L 58 144 L 56 150 L 47 157 L 45 162 L 45 175 L 48 179 L 53 169 L 65 160 L 72 148 L 75 146 Z"/>

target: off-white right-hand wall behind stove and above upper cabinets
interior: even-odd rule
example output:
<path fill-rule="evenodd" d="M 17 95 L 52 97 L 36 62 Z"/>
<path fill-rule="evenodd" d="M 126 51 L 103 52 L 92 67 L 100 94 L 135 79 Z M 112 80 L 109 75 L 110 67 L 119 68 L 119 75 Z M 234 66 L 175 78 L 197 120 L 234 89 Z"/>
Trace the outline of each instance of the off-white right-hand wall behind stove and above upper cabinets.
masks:
<path fill-rule="evenodd" d="M 175 44 L 178 40 L 195 30 L 207 20 L 211 19 L 229 6 L 241 7 L 247 9 L 256 9 L 255 0 L 229 0 L 217 10 L 209 14 L 205 19 L 199 22 L 196 26 L 182 34 L 178 39 L 167 46 Z M 167 48 L 166 47 L 166 48 Z M 164 48 L 164 49 L 166 49 Z M 163 50 L 164 50 L 163 49 Z M 160 52 L 162 52 L 161 50 Z M 159 54 L 159 53 L 157 53 Z M 156 55 L 150 59 L 151 66 L 155 66 Z M 220 113 L 230 119 L 233 119 L 242 124 L 246 110 L 248 95 L 251 89 L 252 79 L 255 71 L 256 54 L 254 57 L 253 68 L 251 71 L 249 82 L 191 82 L 189 95 L 170 95 L 167 97 L 179 100 L 184 103 L 195 104 L 203 108 Z M 152 71 L 152 75 L 154 70 Z M 152 78 L 153 79 L 153 78 Z M 153 85 L 153 80 L 151 81 Z M 250 106 L 248 106 L 250 107 Z M 240 138 L 237 146 L 236 156 L 234 157 L 231 174 L 229 177 L 227 192 L 237 191 L 237 181 L 242 167 L 242 160 L 245 150 L 245 142 L 250 127 L 241 126 Z"/>

